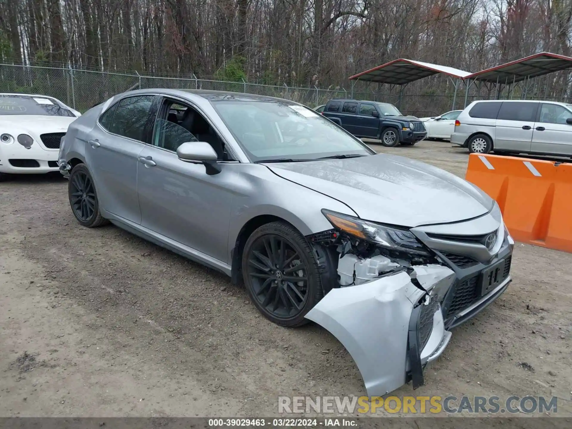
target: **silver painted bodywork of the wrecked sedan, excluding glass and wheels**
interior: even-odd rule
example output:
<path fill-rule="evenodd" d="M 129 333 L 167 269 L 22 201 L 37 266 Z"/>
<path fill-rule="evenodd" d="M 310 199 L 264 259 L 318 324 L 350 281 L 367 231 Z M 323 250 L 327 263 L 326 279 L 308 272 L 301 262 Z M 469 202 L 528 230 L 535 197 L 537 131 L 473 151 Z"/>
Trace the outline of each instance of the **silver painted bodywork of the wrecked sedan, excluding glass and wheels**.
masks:
<path fill-rule="evenodd" d="M 235 161 L 219 161 L 221 172 L 208 175 L 204 165 L 181 161 L 173 152 L 101 128 L 97 121 L 102 112 L 123 97 L 142 94 L 162 94 L 192 105 L 219 133 Z M 142 161 L 149 156 L 156 165 Z M 252 163 L 210 102 L 196 93 L 156 89 L 115 96 L 74 121 L 58 158 L 64 175 L 77 162 L 85 163 L 102 215 L 113 224 L 227 275 L 233 273 L 237 238 L 249 223 L 261 217 L 282 219 L 310 236 L 332 229 L 322 209 L 410 227 L 428 247 L 454 248 L 479 261 L 490 259 L 497 245 L 506 242 L 502 216 L 490 197 L 419 161 L 378 154 Z M 464 243 L 463 236 L 493 231 L 501 244 L 490 250 Z M 456 281 L 455 269 L 444 264 L 407 269 L 409 273 L 388 272 L 367 283 L 333 288 L 306 315 L 344 344 L 370 395 L 386 394 L 407 381 L 412 313 L 425 305 L 422 299 L 440 302 L 450 296 Z M 510 277 L 506 284 L 509 281 Z M 494 298 L 503 291 L 496 288 Z M 487 305 L 491 296 L 478 305 Z M 440 307 L 435 309 L 431 335 L 419 351 L 423 365 L 436 359 L 451 338 L 443 317 Z"/>

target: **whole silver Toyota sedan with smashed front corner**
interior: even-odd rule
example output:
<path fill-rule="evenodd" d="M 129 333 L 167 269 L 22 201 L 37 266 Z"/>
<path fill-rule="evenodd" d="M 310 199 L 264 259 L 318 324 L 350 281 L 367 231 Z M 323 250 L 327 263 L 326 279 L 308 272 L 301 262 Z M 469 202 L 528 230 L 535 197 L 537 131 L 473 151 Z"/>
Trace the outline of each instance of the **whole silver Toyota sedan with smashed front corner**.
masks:
<path fill-rule="evenodd" d="M 450 329 L 511 281 L 495 201 L 292 101 L 119 94 L 70 125 L 59 166 L 81 225 L 110 221 L 227 274 L 274 323 L 319 323 L 370 396 L 423 384 Z"/>

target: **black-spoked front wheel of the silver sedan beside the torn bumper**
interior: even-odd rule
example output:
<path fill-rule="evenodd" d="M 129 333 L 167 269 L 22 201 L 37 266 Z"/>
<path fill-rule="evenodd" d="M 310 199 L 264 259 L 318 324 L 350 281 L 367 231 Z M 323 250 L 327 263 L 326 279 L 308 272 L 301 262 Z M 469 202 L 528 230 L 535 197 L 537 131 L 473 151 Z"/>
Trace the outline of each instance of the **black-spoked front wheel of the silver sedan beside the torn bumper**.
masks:
<path fill-rule="evenodd" d="M 256 229 L 244 246 L 244 284 L 257 309 L 273 323 L 296 327 L 324 296 L 311 244 L 292 225 Z"/>

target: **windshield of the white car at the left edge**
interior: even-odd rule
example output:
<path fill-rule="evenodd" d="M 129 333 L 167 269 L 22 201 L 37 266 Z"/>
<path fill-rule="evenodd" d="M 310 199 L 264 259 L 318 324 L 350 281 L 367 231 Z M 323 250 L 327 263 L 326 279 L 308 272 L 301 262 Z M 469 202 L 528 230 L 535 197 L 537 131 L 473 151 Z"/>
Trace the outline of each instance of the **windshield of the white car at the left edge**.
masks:
<path fill-rule="evenodd" d="M 0 94 L 0 115 L 43 115 L 76 117 L 54 98 Z"/>

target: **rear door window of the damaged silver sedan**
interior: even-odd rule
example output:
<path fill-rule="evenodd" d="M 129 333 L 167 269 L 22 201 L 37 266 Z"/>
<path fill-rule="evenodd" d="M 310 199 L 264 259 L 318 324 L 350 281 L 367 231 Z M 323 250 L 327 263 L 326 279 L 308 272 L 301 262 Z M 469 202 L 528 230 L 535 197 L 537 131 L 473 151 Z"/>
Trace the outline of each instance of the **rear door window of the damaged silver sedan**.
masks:
<path fill-rule="evenodd" d="M 154 96 L 128 97 L 115 110 L 110 132 L 133 140 L 144 141 L 145 124 Z"/>

